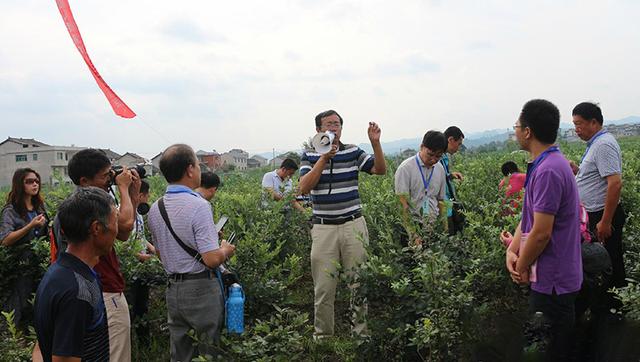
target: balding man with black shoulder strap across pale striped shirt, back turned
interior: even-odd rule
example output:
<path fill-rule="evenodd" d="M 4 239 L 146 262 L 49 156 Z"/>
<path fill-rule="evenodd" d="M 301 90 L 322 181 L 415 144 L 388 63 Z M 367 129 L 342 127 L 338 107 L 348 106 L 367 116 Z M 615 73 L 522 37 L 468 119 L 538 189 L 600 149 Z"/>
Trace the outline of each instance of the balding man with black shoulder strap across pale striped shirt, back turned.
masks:
<path fill-rule="evenodd" d="M 194 189 L 200 186 L 200 165 L 184 144 L 167 148 L 160 170 L 169 186 L 151 206 L 149 230 L 169 275 L 166 291 L 171 360 L 191 361 L 198 355 L 217 355 L 224 317 L 219 266 L 235 252 L 222 240 L 207 202 Z M 189 335 L 195 331 L 198 346 Z M 211 343 L 213 342 L 213 343 Z"/>

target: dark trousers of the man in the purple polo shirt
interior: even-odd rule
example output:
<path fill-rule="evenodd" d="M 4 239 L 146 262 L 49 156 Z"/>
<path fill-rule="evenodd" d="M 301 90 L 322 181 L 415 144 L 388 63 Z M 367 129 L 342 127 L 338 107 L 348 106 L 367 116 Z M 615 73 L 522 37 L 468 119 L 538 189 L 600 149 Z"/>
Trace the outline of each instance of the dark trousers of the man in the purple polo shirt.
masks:
<path fill-rule="evenodd" d="M 575 300 L 578 292 L 551 295 L 531 291 L 529 311 L 542 312 L 548 345 L 545 361 L 568 361 L 574 348 Z"/>

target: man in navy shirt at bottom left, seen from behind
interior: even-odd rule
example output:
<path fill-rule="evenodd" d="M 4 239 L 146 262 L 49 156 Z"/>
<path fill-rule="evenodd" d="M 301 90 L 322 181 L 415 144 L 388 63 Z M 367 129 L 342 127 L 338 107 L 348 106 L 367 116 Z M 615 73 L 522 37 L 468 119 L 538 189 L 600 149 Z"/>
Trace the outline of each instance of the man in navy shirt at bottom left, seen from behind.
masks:
<path fill-rule="evenodd" d="M 109 332 L 100 280 L 93 268 L 118 234 L 113 199 L 79 188 L 58 208 L 68 246 L 45 274 L 35 300 L 35 329 L 44 361 L 108 361 Z M 67 360 L 67 359 L 65 359 Z"/>

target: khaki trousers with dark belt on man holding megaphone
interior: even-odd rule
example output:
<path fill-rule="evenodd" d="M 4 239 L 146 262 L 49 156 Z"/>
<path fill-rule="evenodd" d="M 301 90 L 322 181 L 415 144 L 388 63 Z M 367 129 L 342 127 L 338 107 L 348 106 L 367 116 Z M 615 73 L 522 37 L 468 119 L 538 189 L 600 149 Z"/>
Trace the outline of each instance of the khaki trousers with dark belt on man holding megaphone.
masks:
<path fill-rule="evenodd" d="M 311 229 L 311 275 L 314 292 L 314 335 L 334 334 L 334 302 L 336 299 L 337 266 L 347 275 L 366 260 L 364 246 L 369 244 L 369 233 L 363 217 L 342 225 L 315 224 Z M 349 285 L 353 289 L 356 285 Z M 366 305 L 354 306 L 353 332 L 366 333 L 363 320 Z M 355 318 L 358 315 L 360 318 Z M 358 321 L 360 320 L 360 321 Z"/>

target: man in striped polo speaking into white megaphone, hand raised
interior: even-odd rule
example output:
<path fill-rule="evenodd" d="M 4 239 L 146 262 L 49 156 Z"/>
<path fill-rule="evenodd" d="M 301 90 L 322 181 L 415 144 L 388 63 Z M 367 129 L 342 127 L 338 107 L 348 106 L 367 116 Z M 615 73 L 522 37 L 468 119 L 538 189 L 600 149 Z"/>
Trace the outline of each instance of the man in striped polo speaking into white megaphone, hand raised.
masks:
<path fill-rule="evenodd" d="M 374 154 L 356 145 L 345 145 L 342 117 L 329 110 L 316 116 L 311 149 L 300 162 L 300 193 L 311 193 L 311 274 L 314 288 L 314 337 L 334 333 L 333 306 L 336 296 L 337 263 L 346 273 L 354 273 L 365 260 L 364 244 L 369 242 L 358 193 L 359 172 L 384 175 L 387 166 L 380 145 L 380 127 L 369 122 L 367 131 Z M 353 286 L 349 286 L 352 288 Z M 355 306 L 354 332 L 366 333 L 365 306 Z"/>

